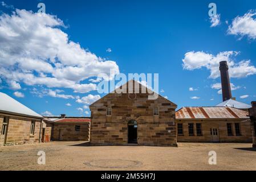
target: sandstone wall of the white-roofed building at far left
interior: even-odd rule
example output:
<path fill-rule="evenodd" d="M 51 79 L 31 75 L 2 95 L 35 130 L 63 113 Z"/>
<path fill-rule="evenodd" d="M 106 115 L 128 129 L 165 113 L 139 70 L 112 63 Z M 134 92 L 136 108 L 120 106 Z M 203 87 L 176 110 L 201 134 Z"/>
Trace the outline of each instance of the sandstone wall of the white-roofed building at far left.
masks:
<path fill-rule="evenodd" d="M 0 117 L 3 118 L 3 115 Z M 30 134 L 31 121 L 35 121 L 35 130 L 33 135 Z M 2 127 L 2 123 L 0 124 Z M 40 120 L 9 116 L 6 145 L 38 143 L 40 135 L 40 124 Z M 1 144 L 3 144 L 3 140 L 1 141 Z"/>

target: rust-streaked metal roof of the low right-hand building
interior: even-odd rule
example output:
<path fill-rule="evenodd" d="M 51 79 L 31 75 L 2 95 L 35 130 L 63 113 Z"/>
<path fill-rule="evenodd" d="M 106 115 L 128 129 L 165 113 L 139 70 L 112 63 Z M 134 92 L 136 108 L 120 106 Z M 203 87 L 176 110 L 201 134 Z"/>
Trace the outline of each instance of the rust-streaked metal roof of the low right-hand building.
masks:
<path fill-rule="evenodd" d="M 232 119 L 249 118 L 248 112 L 234 107 L 182 107 L 176 119 Z"/>

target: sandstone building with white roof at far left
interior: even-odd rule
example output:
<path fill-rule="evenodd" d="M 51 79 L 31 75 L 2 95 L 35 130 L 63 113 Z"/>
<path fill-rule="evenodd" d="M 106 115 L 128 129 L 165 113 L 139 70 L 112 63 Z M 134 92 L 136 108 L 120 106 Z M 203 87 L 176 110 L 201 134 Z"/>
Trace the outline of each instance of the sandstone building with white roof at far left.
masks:
<path fill-rule="evenodd" d="M 42 115 L 0 92 L 0 146 L 39 143 Z"/>

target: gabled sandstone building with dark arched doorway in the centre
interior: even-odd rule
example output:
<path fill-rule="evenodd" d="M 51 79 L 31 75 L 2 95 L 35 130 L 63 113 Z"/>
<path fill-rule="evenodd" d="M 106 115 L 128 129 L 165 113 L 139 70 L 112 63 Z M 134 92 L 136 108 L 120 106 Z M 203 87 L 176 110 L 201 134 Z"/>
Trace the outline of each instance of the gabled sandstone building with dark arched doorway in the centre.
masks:
<path fill-rule="evenodd" d="M 133 85 L 129 92 L 128 85 Z M 139 93 L 135 86 L 139 85 Z M 149 100 L 145 86 L 131 80 L 90 106 L 92 145 L 177 146 L 176 104 L 158 95 Z"/>

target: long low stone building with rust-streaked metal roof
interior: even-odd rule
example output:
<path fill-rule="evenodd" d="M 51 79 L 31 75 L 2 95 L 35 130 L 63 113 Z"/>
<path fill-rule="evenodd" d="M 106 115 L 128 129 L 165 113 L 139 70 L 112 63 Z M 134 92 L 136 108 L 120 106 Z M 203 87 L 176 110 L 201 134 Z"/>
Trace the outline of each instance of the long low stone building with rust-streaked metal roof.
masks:
<path fill-rule="evenodd" d="M 248 112 L 234 107 L 182 107 L 176 127 L 178 142 L 252 142 Z"/>

